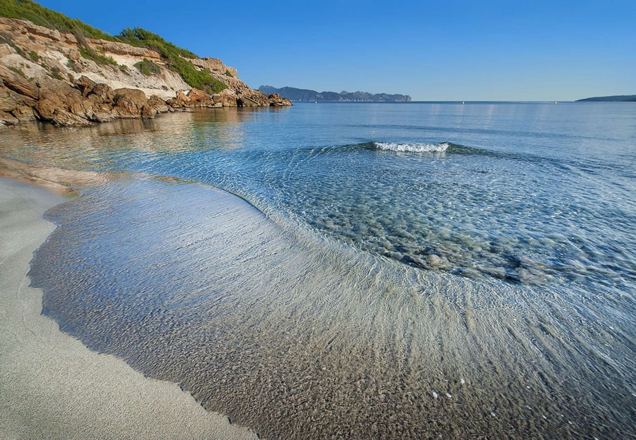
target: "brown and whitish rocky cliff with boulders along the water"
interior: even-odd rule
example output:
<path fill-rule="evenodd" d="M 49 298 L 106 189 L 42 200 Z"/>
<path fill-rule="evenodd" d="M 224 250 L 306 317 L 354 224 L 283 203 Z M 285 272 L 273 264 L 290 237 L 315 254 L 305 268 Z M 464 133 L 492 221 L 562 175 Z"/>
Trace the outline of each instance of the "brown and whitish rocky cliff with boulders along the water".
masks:
<path fill-rule="evenodd" d="M 275 93 L 252 90 L 221 60 L 170 55 L 0 17 L 0 128 L 154 118 L 187 107 L 291 105 Z M 188 85 L 178 63 L 214 85 Z"/>

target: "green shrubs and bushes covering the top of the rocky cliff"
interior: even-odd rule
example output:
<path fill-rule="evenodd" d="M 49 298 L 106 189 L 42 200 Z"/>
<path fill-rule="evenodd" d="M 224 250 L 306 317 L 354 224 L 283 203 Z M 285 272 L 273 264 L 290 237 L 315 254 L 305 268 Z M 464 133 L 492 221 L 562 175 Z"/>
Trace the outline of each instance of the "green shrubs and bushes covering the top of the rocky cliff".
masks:
<path fill-rule="evenodd" d="M 31 0 L 0 0 L 0 15 L 20 20 L 29 20 L 34 24 L 57 29 L 60 32 L 70 32 L 75 34 L 80 40 L 86 36 L 88 38 L 105 39 L 108 41 L 120 41 L 132 46 L 156 50 L 162 58 L 169 64 L 170 69 L 178 72 L 181 78 L 191 87 L 200 88 L 207 92 L 220 92 L 227 88 L 227 85 L 216 78 L 213 78 L 210 71 L 204 69 L 198 71 L 195 66 L 184 58 L 196 58 L 190 50 L 180 48 L 169 41 L 165 41 L 161 36 L 153 32 L 146 31 L 140 27 L 134 29 L 124 29 L 120 35 L 112 36 L 104 31 L 85 24 L 76 18 L 69 18 L 66 15 L 50 10 Z M 85 50 L 87 45 L 83 45 Z M 81 49 L 80 49 L 81 52 Z M 82 56 L 91 59 L 98 64 L 113 64 L 103 55 L 95 53 L 82 53 Z M 102 57 L 102 58 L 100 58 Z M 112 58 L 111 58 L 112 59 Z M 115 63 L 116 64 L 116 63 Z"/>

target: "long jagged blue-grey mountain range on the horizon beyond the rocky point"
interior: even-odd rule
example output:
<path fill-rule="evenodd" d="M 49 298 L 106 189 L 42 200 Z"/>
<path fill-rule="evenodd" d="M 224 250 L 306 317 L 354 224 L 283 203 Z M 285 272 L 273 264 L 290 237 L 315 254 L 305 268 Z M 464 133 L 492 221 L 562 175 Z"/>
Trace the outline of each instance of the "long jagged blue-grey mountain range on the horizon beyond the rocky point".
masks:
<path fill-rule="evenodd" d="M 275 88 L 272 86 L 260 86 L 258 88 L 263 93 L 279 93 L 283 98 L 292 101 L 339 101 L 339 102 L 407 102 L 411 100 L 409 95 L 389 95 L 388 93 L 368 92 L 316 92 L 315 90 L 307 90 L 305 88 L 283 87 Z"/>

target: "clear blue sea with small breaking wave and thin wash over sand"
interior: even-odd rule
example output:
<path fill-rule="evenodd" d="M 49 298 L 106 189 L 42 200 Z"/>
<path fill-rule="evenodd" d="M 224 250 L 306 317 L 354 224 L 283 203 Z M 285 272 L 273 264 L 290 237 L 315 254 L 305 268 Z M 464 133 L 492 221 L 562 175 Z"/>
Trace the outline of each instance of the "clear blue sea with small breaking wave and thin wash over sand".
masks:
<path fill-rule="evenodd" d="M 0 154 L 132 174 L 49 213 L 45 313 L 261 434 L 634 435 L 636 107 L 200 111 Z"/>

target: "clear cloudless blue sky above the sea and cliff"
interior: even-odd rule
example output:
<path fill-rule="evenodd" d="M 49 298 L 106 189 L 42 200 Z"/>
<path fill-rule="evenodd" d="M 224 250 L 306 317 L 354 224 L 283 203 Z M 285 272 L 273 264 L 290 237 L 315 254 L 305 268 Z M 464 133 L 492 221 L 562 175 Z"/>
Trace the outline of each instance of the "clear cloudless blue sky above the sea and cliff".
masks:
<path fill-rule="evenodd" d="M 636 94 L 636 1 L 42 0 L 143 27 L 260 85 L 413 100 Z"/>

